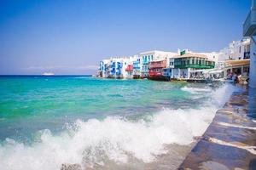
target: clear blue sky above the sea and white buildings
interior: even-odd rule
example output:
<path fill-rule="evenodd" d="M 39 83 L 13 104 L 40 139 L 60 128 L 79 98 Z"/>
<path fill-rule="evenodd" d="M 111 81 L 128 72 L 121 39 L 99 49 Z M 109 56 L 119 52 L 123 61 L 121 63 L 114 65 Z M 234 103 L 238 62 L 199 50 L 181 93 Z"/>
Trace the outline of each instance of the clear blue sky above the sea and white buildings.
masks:
<path fill-rule="evenodd" d="M 0 0 L 0 74 L 96 74 L 148 50 L 219 51 L 241 40 L 250 0 Z"/>

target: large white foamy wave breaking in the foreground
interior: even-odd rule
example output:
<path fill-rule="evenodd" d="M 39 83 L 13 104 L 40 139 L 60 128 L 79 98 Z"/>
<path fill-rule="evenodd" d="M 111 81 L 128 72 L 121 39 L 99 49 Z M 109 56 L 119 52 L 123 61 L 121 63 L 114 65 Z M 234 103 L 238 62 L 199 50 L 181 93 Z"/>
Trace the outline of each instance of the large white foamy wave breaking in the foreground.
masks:
<path fill-rule="evenodd" d="M 213 99 L 224 102 L 221 96 L 217 90 Z M 166 153 L 165 144 L 193 142 L 193 137 L 207 129 L 217 109 L 210 104 L 196 110 L 163 109 L 148 116 L 147 121 L 136 122 L 113 116 L 102 121 L 78 120 L 58 135 L 42 131 L 40 140 L 31 145 L 6 139 L 0 145 L 0 166 L 2 170 L 54 170 L 60 169 L 62 163 L 79 163 L 83 167 L 103 165 L 106 158 L 126 162 L 128 156 L 151 162 L 156 155 Z"/>

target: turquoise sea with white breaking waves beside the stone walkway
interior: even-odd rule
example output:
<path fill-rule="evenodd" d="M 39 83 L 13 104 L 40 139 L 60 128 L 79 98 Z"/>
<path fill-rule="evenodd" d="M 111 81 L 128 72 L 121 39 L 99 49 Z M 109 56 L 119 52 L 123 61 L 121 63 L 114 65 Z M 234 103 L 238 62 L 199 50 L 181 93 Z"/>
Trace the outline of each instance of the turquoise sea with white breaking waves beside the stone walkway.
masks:
<path fill-rule="evenodd" d="M 236 88 L 0 77 L 0 169 L 175 169 Z"/>

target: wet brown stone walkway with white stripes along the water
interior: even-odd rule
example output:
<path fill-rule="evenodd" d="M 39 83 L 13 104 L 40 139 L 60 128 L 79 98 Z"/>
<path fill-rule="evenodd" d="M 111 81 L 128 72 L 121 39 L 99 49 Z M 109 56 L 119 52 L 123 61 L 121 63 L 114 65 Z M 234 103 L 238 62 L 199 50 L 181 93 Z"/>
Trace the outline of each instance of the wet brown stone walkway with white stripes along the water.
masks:
<path fill-rule="evenodd" d="M 256 169 L 256 121 L 248 116 L 252 114 L 249 106 L 256 103 L 254 97 L 249 101 L 252 98 L 248 91 L 232 94 L 223 109 L 217 111 L 179 170 Z"/>

